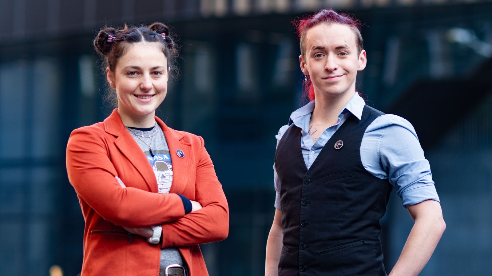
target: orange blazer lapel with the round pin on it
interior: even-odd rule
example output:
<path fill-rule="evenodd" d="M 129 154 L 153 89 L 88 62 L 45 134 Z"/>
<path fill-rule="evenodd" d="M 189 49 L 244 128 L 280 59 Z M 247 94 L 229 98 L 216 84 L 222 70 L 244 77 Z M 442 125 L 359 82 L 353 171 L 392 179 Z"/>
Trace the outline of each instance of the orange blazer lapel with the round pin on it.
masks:
<path fill-rule="evenodd" d="M 173 163 L 173 184 L 169 193 L 183 193 L 186 188 L 189 169 L 191 168 L 189 166 L 191 146 L 182 140 L 183 134 L 168 128 L 159 118 L 155 117 L 155 120 L 164 132 L 169 154 L 171 155 L 171 162 Z M 180 150 L 184 153 L 183 158 L 178 156 L 178 151 Z"/>

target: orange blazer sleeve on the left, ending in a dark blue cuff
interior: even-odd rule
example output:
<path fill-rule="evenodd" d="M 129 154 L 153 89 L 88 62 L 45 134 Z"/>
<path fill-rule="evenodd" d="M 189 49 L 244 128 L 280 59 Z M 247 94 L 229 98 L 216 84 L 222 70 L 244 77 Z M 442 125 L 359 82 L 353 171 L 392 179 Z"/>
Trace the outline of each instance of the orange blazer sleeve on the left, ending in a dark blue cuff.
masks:
<path fill-rule="evenodd" d="M 101 136 L 89 128 L 79 128 L 68 139 L 68 179 L 83 201 L 104 220 L 124 227 L 148 227 L 184 216 L 184 208 L 176 208 L 183 206 L 178 194 L 122 188 Z"/>

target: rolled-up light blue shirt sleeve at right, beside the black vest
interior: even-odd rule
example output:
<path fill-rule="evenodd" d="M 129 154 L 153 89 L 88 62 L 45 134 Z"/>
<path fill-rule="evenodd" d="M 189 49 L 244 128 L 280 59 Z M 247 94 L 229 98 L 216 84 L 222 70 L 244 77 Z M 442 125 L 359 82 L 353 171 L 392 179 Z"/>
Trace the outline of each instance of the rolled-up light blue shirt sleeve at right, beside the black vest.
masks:
<path fill-rule="evenodd" d="M 361 159 L 371 174 L 388 178 L 397 188 L 403 207 L 428 199 L 439 202 L 431 166 L 415 129 L 400 116 L 382 115 L 369 125 L 361 145 Z"/>

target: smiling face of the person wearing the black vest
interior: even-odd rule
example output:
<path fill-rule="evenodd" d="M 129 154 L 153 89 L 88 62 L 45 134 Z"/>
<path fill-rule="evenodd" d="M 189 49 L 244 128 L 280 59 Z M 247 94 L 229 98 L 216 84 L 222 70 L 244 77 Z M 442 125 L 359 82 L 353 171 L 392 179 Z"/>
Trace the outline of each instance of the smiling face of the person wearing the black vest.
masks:
<path fill-rule="evenodd" d="M 306 32 L 301 70 L 309 75 L 316 99 L 351 97 L 357 71 L 366 67 L 366 51 L 358 53 L 353 30 L 342 24 L 319 24 Z"/>

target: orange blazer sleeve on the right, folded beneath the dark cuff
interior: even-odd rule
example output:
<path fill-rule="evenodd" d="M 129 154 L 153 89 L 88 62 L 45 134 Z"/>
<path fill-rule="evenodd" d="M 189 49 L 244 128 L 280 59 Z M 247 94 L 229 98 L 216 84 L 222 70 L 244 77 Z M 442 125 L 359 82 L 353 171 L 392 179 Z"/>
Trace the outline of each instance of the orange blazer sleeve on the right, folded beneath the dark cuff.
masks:
<path fill-rule="evenodd" d="M 210 155 L 200 138 L 196 166 L 196 198 L 203 208 L 183 218 L 162 224 L 162 248 L 190 246 L 223 240 L 229 233 L 229 207 Z"/>

